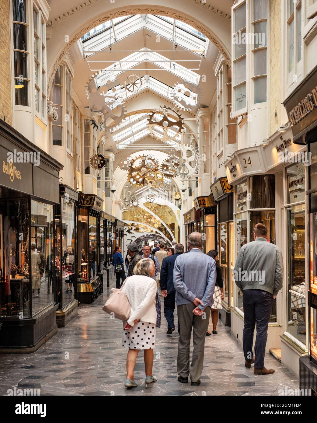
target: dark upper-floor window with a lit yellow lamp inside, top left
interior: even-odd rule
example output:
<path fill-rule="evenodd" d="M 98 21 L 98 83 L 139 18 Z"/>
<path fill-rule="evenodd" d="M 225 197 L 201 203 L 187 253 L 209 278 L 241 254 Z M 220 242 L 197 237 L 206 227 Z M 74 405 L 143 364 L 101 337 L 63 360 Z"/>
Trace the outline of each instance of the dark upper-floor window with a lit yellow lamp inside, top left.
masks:
<path fill-rule="evenodd" d="M 29 106 L 29 44 L 27 1 L 13 0 L 13 55 L 15 104 Z"/>

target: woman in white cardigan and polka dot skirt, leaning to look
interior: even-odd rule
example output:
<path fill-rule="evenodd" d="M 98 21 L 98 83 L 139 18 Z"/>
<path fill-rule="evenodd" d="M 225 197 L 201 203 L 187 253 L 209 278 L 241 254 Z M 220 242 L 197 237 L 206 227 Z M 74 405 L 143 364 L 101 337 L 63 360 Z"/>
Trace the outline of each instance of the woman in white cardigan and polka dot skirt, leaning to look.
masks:
<path fill-rule="evenodd" d="M 140 349 L 144 349 L 145 383 L 156 382 L 152 374 L 156 338 L 156 282 L 154 262 L 143 258 L 134 267 L 134 275 L 126 279 L 122 291 L 128 297 L 131 314 L 123 322 L 122 346 L 128 348 L 126 357 L 126 382 L 124 386 L 135 387 L 134 366 Z"/>

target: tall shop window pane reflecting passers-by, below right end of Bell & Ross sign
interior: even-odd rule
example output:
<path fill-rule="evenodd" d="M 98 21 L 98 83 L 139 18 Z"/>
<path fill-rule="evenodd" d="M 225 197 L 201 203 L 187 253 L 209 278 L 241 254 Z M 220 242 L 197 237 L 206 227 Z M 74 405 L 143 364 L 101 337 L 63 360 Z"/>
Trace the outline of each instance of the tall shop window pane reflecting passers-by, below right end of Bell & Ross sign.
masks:
<path fill-rule="evenodd" d="M 54 302 L 50 261 L 53 258 L 53 206 L 31 200 L 32 313 Z"/>

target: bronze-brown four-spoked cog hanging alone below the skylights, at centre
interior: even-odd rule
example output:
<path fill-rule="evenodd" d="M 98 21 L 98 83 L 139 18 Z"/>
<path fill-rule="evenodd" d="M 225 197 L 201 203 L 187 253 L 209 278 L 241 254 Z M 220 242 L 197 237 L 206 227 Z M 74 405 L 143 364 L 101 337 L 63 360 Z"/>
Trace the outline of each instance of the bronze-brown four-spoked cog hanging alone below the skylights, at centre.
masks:
<path fill-rule="evenodd" d="M 164 106 L 150 114 L 148 129 L 160 141 L 175 140 L 183 130 L 183 118 L 176 110 Z"/>

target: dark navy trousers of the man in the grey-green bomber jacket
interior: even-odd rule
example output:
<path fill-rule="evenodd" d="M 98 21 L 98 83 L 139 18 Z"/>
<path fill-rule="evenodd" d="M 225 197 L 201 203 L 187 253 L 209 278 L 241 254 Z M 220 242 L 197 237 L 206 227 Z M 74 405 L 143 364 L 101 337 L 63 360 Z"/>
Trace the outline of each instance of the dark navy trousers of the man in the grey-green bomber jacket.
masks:
<path fill-rule="evenodd" d="M 257 337 L 255 338 L 254 368 L 264 367 L 266 340 L 268 339 L 268 323 L 273 306 L 273 295 L 260 289 L 243 290 L 243 353 L 246 360 L 253 358 L 253 334 L 257 323 Z"/>

